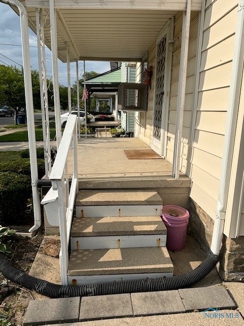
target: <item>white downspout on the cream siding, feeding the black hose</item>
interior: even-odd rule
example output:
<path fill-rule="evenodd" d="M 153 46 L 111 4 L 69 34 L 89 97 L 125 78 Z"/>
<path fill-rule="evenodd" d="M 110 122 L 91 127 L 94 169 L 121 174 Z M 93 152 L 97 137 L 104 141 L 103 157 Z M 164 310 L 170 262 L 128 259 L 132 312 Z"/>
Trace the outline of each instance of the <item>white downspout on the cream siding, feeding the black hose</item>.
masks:
<path fill-rule="evenodd" d="M 228 199 L 230 173 L 232 167 L 235 130 L 241 90 L 241 78 L 244 57 L 244 0 L 240 0 L 237 11 L 237 25 L 233 51 L 232 72 L 230 80 L 229 103 L 227 109 L 224 152 L 222 158 L 219 197 L 216 208 L 215 225 L 212 233 L 211 251 L 219 254 L 225 224 L 225 213 Z"/>

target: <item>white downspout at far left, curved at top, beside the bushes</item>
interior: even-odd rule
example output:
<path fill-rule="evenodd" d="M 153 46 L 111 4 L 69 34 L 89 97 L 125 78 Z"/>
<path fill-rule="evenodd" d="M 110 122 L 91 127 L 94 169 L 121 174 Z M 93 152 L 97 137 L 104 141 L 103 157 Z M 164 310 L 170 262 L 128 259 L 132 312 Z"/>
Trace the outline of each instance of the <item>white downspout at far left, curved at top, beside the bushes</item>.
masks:
<path fill-rule="evenodd" d="M 38 170 L 37 170 L 37 149 L 36 149 L 36 135 L 35 135 L 35 119 L 33 106 L 33 92 L 32 92 L 32 71 L 31 61 L 29 55 L 29 35 L 28 35 L 28 15 L 24 6 L 17 0 L 1 0 L 4 4 L 16 6 L 19 10 L 20 30 L 22 42 L 22 56 L 23 56 L 23 72 L 24 72 L 24 92 L 25 105 L 27 116 L 27 130 L 29 143 L 29 159 L 31 161 L 31 179 L 32 179 L 32 194 L 33 194 L 33 208 L 34 208 L 34 226 L 29 229 L 33 232 L 41 226 L 41 207 L 40 197 L 38 192 Z"/>

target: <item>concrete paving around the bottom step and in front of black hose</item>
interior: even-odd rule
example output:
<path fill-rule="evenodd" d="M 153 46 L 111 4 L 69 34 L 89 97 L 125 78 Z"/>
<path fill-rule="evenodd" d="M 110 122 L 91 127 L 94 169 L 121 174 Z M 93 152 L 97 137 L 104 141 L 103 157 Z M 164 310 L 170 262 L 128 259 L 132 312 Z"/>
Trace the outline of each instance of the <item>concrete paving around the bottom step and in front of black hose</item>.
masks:
<path fill-rule="evenodd" d="M 43 253 L 50 237 L 44 237 L 29 274 L 60 284 L 58 258 Z M 170 252 L 170 256 L 175 275 L 187 273 L 205 259 L 192 237 L 184 250 Z M 186 289 L 55 299 L 35 292 L 34 298 L 24 326 L 244 325 L 244 283 L 223 283 L 215 269 Z"/>

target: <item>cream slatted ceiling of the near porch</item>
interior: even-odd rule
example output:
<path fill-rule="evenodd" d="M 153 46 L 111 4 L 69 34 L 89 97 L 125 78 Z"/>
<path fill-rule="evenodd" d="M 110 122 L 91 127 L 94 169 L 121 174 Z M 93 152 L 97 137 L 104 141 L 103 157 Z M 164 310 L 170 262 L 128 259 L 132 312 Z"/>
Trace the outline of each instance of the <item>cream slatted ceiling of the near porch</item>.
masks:
<path fill-rule="evenodd" d="M 36 8 L 44 9 L 45 43 L 50 48 L 49 1 L 21 0 L 21 2 L 27 9 L 29 26 L 34 32 L 36 32 Z M 87 1 L 55 0 L 58 58 L 63 62 L 67 61 L 69 43 L 70 61 L 140 61 L 169 18 L 178 10 L 184 10 L 186 2 L 186 0 L 152 3 L 138 1 L 137 5 L 137 1 L 95 0 L 90 5 Z M 200 2 L 201 0 L 193 0 L 195 4 L 193 10 L 198 10 Z M 117 7 L 119 4 L 121 8 L 116 8 L 116 3 Z M 17 12 L 16 8 L 13 9 Z"/>

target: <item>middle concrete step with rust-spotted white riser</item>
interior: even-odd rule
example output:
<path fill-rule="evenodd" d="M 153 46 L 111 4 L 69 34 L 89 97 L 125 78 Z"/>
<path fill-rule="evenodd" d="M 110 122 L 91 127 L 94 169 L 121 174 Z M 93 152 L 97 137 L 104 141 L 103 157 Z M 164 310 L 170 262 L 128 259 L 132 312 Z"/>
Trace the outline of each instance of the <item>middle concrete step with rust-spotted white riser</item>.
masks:
<path fill-rule="evenodd" d="M 71 249 L 165 247 L 166 232 L 160 216 L 75 218 Z"/>

